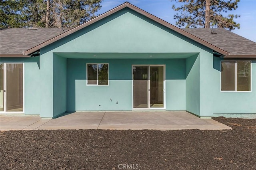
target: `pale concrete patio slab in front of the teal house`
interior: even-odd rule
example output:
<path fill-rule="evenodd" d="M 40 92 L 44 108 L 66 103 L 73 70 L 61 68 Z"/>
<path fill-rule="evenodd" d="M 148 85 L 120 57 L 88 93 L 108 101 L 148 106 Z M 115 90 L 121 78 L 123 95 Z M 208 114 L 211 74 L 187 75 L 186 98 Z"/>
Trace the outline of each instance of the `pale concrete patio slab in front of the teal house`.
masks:
<path fill-rule="evenodd" d="M 212 119 L 185 111 L 76 112 L 56 119 L 0 116 L 0 130 L 117 129 L 117 130 L 223 130 L 232 129 Z"/>

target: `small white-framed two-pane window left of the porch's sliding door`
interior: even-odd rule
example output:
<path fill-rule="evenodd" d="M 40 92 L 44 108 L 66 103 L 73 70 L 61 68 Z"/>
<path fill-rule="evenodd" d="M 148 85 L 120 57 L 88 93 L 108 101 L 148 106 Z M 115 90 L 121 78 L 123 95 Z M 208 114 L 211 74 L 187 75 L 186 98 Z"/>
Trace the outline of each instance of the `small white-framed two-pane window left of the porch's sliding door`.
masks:
<path fill-rule="evenodd" d="M 87 63 L 87 85 L 108 85 L 108 63 Z"/>

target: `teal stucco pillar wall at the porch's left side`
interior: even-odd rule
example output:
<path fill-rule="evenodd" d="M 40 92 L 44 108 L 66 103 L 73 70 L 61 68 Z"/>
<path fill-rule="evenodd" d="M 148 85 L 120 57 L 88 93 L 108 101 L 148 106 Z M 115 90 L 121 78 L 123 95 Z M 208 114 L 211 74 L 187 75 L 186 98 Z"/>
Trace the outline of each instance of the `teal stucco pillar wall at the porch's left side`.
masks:
<path fill-rule="evenodd" d="M 57 117 L 66 112 L 66 58 L 41 50 L 41 117 Z"/>

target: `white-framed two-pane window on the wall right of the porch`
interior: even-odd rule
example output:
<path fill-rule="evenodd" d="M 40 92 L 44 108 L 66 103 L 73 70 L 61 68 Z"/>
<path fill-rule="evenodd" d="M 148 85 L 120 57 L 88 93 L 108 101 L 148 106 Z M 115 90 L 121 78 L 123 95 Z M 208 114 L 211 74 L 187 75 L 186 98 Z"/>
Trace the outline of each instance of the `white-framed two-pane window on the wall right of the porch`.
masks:
<path fill-rule="evenodd" d="M 221 61 L 221 91 L 251 91 L 252 61 Z"/>

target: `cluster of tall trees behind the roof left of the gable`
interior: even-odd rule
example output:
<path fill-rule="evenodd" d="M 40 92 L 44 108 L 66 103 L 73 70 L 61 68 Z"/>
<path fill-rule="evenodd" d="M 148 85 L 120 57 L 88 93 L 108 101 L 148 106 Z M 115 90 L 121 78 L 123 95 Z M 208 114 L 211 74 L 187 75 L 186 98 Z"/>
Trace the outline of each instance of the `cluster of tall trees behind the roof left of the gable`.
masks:
<path fill-rule="evenodd" d="M 102 0 L 0 0 L 0 28 L 74 28 L 96 16 Z"/>

